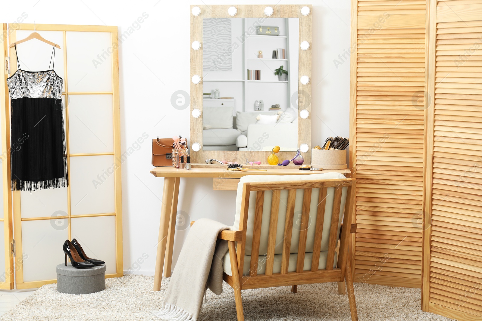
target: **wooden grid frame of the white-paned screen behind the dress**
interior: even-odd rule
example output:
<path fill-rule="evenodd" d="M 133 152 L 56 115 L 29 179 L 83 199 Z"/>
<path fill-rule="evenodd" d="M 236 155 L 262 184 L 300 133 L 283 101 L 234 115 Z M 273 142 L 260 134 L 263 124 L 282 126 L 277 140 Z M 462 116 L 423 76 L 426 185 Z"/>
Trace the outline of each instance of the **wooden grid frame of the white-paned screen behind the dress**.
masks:
<path fill-rule="evenodd" d="M 55 283 L 57 280 L 42 280 L 24 282 L 23 280 L 23 259 L 22 259 L 22 221 L 27 220 L 41 220 L 41 219 L 68 219 L 68 238 L 71 239 L 71 218 L 85 218 L 85 217 L 101 217 L 101 216 L 114 216 L 115 217 L 115 237 L 116 237 L 116 273 L 107 274 L 106 278 L 116 278 L 122 276 L 123 273 L 123 253 L 122 253 L 122 191 L 121 191 L 121 153 L 120 153 L 120 95 L 119 95 L 119 49 L 118 49 L 118 32 L 117 26 L 81 26 L 81 25 L 52 25 L 52 24 L 15 24 L 15 27 L 10 26 L 12 32 L 9 35 L 9 43 L 16 41 L 17 30 L 31 30 L 37 31 L 62 31 L 63 32 L 63 44 L 61 48 L 64 51 L 64 85 L 65 91 L 62 92 L 65 98 L 65 119 L 66 119 L 66 144 L 67 144 L 67 170 L 68 176 L 70 175 L 70 157 L 76 156 L 96 156 L 96 155 L 113 155 L 116 167 L 114 168 L 114 213 L 101 213 L 101 214 L 84 214 L 84 215 L 71 215 L 70 204 L 70 187 L 69 181 L 67 187 L 67 216 L 62 217 L 44 217 L 44 218 L 22 218 L 21 217 L 21 205 L 20 205 L 20 191 L 13 191 L 13 230 L 15 235 L 15 287 L 17 289 L 29 289 L 37 288 L 44 284 Z M 110 92 L 72 92 L 68 91 L 67 84 L 67 39 L 66 33 L 68 31 L 84 31 L 84 32 L 109 32 L 110 43 L 112 44 L 111 53 L 111 72 L 112 72 L 112 91 Z M 63 47 L 62 47 L 63 46 Z M 16 70 L 17 61 L 14 48 L 10 48 L 10 74 Z M 5 86 L 6 82 L 5 82 Z M 114 151 L 112 153 L 89 153 L 89 154 L 70 154 L 69 152 L 69 133 L 68 133 L 68 96 L 69 95 L 85 95 L 85 94 L 110 94 L 112 95 L 112 115 L 113 115 L 113 139 L 114 139 Z M 8 113 L 8 122 L 10 123 L 10 113 Z M 3 124 L 2 124 L 3 125 Z M 10 174 L 10 168 L 8 168 Z M 10 176 L 9 176 L 10 177 Z M 5 179 L 5 178 L 4 178 Z M 10 182 L 9 182 L 10 189 Z M 60 247 L 59 247 L 60 249 Z"/>

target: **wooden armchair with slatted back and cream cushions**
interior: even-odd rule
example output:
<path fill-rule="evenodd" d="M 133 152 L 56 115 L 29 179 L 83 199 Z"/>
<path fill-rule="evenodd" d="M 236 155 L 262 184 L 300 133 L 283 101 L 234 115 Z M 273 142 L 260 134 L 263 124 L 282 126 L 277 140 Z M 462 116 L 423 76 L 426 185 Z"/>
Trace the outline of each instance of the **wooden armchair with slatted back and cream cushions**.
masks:
<path fill-rule="evenodd" d="M 345 279 L 351 319 L 358 320 L 348 255 L 354 182 L 338 173 L 241 179 L 239 231 L 218 236 L 228 241 L 224 280 L 234 289 L 238 321 L 241 290 L 291 285 L 296 292 L 299 284 Z"/>

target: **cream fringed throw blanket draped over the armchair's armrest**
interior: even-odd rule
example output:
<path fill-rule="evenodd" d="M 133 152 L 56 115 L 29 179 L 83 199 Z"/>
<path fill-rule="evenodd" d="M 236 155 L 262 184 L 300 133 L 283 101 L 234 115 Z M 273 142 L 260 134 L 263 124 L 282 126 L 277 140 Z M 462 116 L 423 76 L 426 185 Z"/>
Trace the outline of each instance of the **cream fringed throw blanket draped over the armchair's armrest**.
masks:
<path fill-rule="evenodd" d="M 165 321 L 196 321 L 207 287 L 223 292 L 223 257 L 228 242 L 217 235 L 229 227 L 209 218 L 198 219 L 189 230 L 162 308 L 155 315 Z"/>

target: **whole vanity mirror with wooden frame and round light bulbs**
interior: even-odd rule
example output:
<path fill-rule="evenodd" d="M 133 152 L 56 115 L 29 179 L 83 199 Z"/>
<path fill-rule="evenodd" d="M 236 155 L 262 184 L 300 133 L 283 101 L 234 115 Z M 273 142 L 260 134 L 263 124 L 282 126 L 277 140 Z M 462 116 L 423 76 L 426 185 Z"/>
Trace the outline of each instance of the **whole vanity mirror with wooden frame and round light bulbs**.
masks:
<path fill-rule="evenodd" d="M 191 162 L 310 146 L 311 6 L 191 6 Z M 304 146 L 306 146 L 304 145 Z M 309 161 L 310 151 L 302 153 Z"/>

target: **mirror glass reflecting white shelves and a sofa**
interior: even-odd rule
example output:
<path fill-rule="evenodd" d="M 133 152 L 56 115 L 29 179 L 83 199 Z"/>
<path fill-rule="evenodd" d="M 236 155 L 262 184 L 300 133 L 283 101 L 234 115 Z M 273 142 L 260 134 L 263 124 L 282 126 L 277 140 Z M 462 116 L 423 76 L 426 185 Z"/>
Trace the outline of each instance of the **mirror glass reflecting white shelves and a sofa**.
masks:
<path fill-rule="evenodd" d="M 203 19 L 204 151 L 296 151 L 298 18 Z"/>

